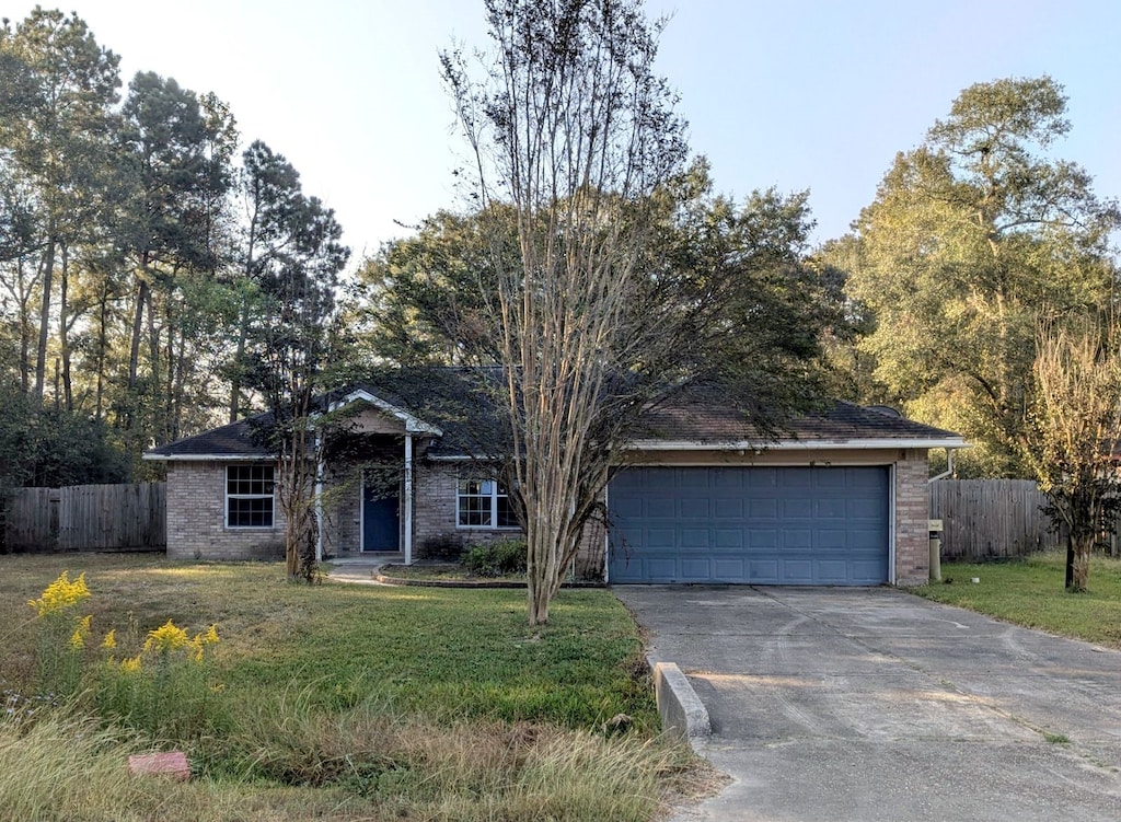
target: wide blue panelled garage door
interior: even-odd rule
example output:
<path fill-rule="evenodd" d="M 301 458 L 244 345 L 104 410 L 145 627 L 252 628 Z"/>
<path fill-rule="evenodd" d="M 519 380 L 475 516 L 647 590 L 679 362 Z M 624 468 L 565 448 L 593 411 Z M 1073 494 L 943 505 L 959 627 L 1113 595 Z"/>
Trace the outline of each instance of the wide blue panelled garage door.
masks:
<path fill-rule="evenodd" d="M 884 467 L 627 469 L 610 581 L 878 585 L 888 500 Z"/>

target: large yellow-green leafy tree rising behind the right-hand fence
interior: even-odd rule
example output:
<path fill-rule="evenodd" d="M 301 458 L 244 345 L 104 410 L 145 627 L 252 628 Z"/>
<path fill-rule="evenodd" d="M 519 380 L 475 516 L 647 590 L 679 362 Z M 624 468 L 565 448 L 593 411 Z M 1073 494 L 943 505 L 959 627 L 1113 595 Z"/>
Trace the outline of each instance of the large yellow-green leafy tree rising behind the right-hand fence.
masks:
<path fill-rule="evenodd" d="M 970 86 L 901 153 L 855 224 L 849 295 L 874 316 L 874 378 L 924 421 L 961 431 L 976 470 L 1020 475 L 1035 330 L 1104 305 L 1112 203 L 1050 149 L 1069 129 L 1049 77 Z M 826 257 L 827 259 L 827 257 Z"/>

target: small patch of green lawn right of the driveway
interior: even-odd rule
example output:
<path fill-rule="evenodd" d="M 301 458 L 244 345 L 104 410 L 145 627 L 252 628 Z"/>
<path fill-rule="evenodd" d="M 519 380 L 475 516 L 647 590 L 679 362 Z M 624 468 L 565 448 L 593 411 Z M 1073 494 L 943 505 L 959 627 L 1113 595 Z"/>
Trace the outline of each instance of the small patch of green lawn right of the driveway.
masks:
<path fill-rule="evenodd" d="M 1066 555 L 991 563 L 944 563 L 943 582 L 912 588 L 926 599 L 1008 622 L 1121 648 L 1121 560 L 1094 557 L 1090 591 L 1063 588 Z M 972 578 L 980 579 L 974 584 Z"/>

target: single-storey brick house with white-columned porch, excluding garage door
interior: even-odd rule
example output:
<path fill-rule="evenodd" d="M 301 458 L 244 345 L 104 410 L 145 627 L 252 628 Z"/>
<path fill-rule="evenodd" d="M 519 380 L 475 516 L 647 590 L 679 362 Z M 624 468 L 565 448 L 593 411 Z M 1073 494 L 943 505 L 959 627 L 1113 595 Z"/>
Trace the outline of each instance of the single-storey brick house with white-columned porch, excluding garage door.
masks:
<path fill-rule="evenodd" d="M 399 396 L 379 395 L 372 388 L 350 391 L 339 401 L 354 409 L 354 432 L 382 454 L 381 463 L 389 468 L 378 482 L 361 471 L 326 468 L 319 510 L 324 556 L 388 551 L 400 561 L 415 562 L 520 534 L 509 516 L 503 521 L 507 500 L 501 488 L 483 475 L 485 463 L 448 444 L 453 423 L 433 418 L 430 409 L 414 413 Z M 275 465 L 252 444 L 251 425 L 242 421 L 222 426 L 146 455 L 167 462 L 169 556 L 282 555 L 282 512 L 271 482 Z M 797 475 L 810 469 L 841 472 L 872 467 L 887 477 L 878 539 L 886 543 L 888 558 L 878 581 L 918 584 L 929 572 L 927 450 L 963 446 L 951 432 L 850 404 L 839 403 L 832 410 L 796 421 L 780 437 L 765 438 L 732 409 L 685 403 L 651 414 L 649 436 L 631 443 L 620 472 L 649 469 L 666 478 L 675 471 L 698 477 L 704 467 L 725 472 L 775 468 Z M 613 484 L 608 488 L 609 509 L 613 489 Z M 615 535 L 602 525 L 590 526 L 576 572 L 602 578 L 619 552 Z"/>

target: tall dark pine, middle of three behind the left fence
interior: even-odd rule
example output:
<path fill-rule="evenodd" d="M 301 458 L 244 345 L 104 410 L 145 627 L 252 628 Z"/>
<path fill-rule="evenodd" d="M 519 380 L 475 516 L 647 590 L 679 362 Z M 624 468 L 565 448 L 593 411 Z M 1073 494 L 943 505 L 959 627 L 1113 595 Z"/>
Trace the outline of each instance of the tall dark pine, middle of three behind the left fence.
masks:
<path fill-rule="evenodd" d="M 150 423 L 142 434 L 157 443 L 178 435 L 185 392 L 197 381 L 195 363 L 203 364 L 192 350 L 197 338 L 186 333 L 198 322 L 188 298 L 204 295 L 207 280 L 219 288 L 228 244 L 220 233 L 228 228 L 222 211 L 237 133 L 220 103 L 205 102 L 210 109 L 174 78 L 140 72 L 129 84 L 118 131 L 129 185 L 121 239 L 136 279 L 128 401 L 131 409 L 147 407 Z M 148 368 L 141 386 L 145 336 Z"/>

